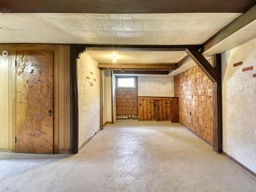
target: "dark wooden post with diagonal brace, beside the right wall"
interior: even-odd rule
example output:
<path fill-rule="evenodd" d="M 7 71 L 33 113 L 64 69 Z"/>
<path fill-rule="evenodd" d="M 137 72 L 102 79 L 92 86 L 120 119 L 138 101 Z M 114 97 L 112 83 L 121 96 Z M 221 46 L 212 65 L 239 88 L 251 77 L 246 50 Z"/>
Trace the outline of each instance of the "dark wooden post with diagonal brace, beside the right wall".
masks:
<path fill-rule="evenodd" d="M 213 65 L 196 49 L 187 49 L 186 53 L 197 63 L 212 81 L 212 105 L 214 116 L 214 151 L 222 153 L 222 90 L 221 90 L 221 54 L 214 55 Z"/>

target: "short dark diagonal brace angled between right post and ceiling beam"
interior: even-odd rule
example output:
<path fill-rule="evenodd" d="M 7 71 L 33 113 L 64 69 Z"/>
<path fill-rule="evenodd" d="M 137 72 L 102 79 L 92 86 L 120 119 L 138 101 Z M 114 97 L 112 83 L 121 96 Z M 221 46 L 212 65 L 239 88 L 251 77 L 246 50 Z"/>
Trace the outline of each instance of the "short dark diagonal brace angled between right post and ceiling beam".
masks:
<path fill-rule="evenodd" d="M 187 49 L 186 53 L 193 59 L 212 82 L 217 82 L 216 70 L 207 59 L 196 49 Z"/>

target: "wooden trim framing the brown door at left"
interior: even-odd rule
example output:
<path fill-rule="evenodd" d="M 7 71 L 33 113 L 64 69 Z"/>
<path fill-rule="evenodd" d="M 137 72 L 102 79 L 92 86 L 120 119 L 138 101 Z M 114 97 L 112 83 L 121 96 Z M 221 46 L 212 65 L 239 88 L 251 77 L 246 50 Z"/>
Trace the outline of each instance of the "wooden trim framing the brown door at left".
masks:
<path fill-rule="evenodd" d="M 11 77 L 15 79 L 14 81 L 10 82 L 10 86 L 12 87 L 12 92 L 11 92 L 11 97 L 14 97 L 12 99 L 12 110 L 14 110 L 14 113 L 12 113 L 11 116 L 11 121 L 12 123 L 12 151 L 16 151 L 16 144 L 15 144 L 15 136 L 16 136 L 16 67 L 15 67 L 15 59 L 16 59 L 16 51 L 53 51 L 53 79 L 54 79 L 54 84 L 53 84 L 53 91 L 54 91 L 54 106 L 53 106 L 53 115 L 54 115 L 54 120 L 53 120 L 53 153 L 56 154 L 58 153 L 58 113 L 59 113 L 59 108 L 58 108 L 58 47 L 15 47 L 13 46 L 10 53 L 12 53 L 12 61 L 11 61 L 11 66 L 12 66 L 12 71 L 11 71 Z"/>

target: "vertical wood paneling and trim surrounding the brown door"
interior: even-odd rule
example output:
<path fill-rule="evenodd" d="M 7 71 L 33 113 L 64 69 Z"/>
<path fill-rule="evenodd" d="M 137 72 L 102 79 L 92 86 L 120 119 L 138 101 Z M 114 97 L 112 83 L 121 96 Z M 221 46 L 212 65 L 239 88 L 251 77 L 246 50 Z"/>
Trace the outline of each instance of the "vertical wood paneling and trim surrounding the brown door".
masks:
<path fill-rule="evenodd" d="M 1 115 L 1 134 L 0 149 L 15 151 L 15 57 L 16 50 L 53 50 L 54 58 L 54 76 L 57 79 L 54 82 L 54 108 L 58 113 L 54 114 L 54 121 L 57 121 L 57 127 L 54 127 L 54 153 L 69 153 L 70 151 L 70 48 L 69 45 L 53 44 L 2 44 L 1 50 L 7 50 L 9 55 L 3 58 L 1 51 L 0 66 L 5 68 L 1 70 L 0 81 L 7 82 L 6 86 L 1 88 L 1 96 L 5 98 L 0 100 Z M 1 67 L 2 69 L 2 67 Z M 3 74 L 2 74 L 3 73 Z M 5 84 L 6 85 L 6 84 Z M 3 89 L 3 92 L 2 92 Z M 8 98 L 8 102 L 6 102 Z M 5 103 L 4 103 L 5 101 Z M 7 107 L 8 103 L 8 107 Z M 8 123 L 7 123 L 8 122 Z M 55 131 L 56 130 L 56 131 Z"/>

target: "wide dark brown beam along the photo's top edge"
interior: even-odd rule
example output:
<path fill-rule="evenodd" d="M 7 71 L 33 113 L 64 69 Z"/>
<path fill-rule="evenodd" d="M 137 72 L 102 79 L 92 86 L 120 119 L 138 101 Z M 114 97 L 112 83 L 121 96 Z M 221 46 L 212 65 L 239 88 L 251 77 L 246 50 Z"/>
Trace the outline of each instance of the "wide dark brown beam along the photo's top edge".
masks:
<path fill-rule="evenodd" d="M 244 13 L 253 0 L 2 0 L 2 13 Z"/>

